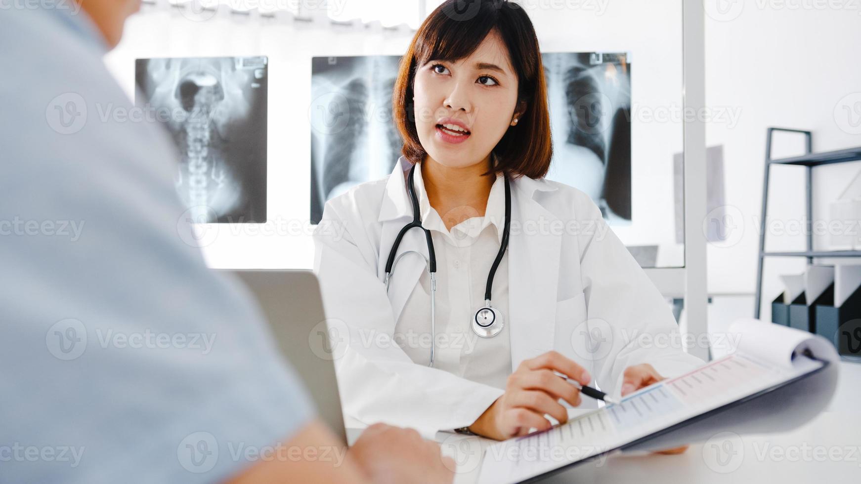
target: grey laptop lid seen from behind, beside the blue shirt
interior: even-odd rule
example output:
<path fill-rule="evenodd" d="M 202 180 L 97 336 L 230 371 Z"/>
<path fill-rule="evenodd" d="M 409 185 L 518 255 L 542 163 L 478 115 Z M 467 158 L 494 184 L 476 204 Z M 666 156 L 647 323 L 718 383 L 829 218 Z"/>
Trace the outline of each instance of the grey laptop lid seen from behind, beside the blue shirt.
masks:
<path fill-rule="evenodd" d="M 293 365 L 317 406 L 317 414 L 347 443 L 335 365 L 319 348 L 330 348 L 323 301 L 311 271 L 241 270 L 231 272 L 257 299 L 282 355 Z M 316 340 L 315 340 L 316 339 Z M 322 339 L 319 340 L 319 339 Z M 314 350 L 317 349 L 315 352 Z"/>

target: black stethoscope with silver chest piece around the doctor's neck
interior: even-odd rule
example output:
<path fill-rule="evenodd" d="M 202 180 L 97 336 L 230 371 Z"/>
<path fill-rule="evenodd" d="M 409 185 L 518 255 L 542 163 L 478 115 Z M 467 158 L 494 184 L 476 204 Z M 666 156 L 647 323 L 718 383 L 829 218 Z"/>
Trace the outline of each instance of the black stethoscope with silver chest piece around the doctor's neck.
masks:
<path fill-rule="evenodd" d="M 421 255 L 424 259 L 424 263 L 428 269 L 428 273 L 431 275 L 431 363 L 428 366 L 433 366 L 434 346 L 436 346 L 435 341 L 437 339 L 437 254 L 434 252 L 433 239 L 431 238 L 431 230 L 427 230 L 422 226 L 422 220 L 418 213 L 418 197 L 416 196 L 416 187 L 413 184 L 413 173 L 415 171 L 416 165 L 412 165 L 412 168 L 410 168 L 409 186 L 407 187 L 407 191 L 410 193 L 410 200 L 412 201 L 412 222 L 406 224 L 404 228 L 400 230 L 398 236 L 394 239 L 394 244 L 392 246 L 392 249 L 388 253 L 388 260 L 386 261 L 385 282 L 386 291 L 388 292 L 388 285 L 392 278 L 394 266 L 397 265 L 398 260 L 400 260 L 400 258 L 404 255 L 414 252 Z M 424 239 L 427 242 L 429 257 L 424 257 L 424 254 L 418 252 L 418 250 L 407 250 L 404 253 L 400 254 L 397 259 L 395 259 L 394 254 L 397 254 L 398 252 L 400 240 L 404 238 L 404 234 L 406 234 L 407 230 L 416 227 L 424 231 Z M 470 322 L 470 326 L 473 328 L 473 332 L 475 334 L 478 334 L 481 338 L 492 338 L 493 336 L 499 334 L 499 332 L 502 331 L 502 328 L 505 326 L 505 316 L 503 316 L 502 311 L 500 311 L 499 308 L 493 307 L 493 305 L 491 304 L 490 294 L 493 285 L 493 276 L 496 274 L 496 269 L 497 267 L 499 267 L 499 262 L 502 261 L 502 256 L 505 255 L 505 249 L 508 248 L 508 236 L 510 232 L 511 187 L 508 182 L 508 177 L 505 176 L 505 226 L 502 230 L 502 242 L 500 242 L 499 244 L 499 252 L 496 254 L 496 259 L 493 260 L 493 265 L 490 268 L 490 273 L 487 274 L 484 306 L 481 306 L 478 310 L 475 311 L 475 314 L 472 318 L 472 322 Z"/>

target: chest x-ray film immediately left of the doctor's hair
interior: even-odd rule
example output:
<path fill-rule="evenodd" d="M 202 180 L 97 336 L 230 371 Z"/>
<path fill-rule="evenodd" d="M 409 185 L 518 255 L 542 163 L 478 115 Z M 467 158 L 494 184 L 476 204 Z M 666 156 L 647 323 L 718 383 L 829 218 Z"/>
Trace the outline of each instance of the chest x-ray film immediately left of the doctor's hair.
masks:
<path fill-rule="evenodd" d="M 398 56 L 312 59 L 311 219 L 325 201 L 392 172 L 403 144 L 392 121 Z"/>

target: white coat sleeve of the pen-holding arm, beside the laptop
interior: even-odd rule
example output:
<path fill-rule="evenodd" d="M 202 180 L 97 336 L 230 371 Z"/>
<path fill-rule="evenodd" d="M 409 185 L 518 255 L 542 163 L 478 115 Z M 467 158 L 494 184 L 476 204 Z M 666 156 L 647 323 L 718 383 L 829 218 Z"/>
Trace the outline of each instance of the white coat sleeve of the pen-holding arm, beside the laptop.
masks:
<path fill-rule="evenodd" d="M 504 391 L 414 363 L 394 343 L 393 309 L 375 274 L 378 251 L 357 216 L 340 215 L 327 203 L 313 238 L 344 414 L 427 438 L 471 425 Z"/>

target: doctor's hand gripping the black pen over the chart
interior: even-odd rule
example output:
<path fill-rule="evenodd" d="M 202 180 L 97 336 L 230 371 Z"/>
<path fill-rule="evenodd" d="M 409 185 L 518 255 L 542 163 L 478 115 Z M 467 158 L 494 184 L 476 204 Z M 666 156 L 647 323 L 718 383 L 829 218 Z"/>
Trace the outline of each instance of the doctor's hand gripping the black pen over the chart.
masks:
<path fill-rule="evenodd" d="M 560 423 L 568 421 L 567 409 L 559 399 L 573 407 L 580 404 L 580 390 L 554 374 L 559 371 L 567 377 L 587 385 L 589 372 L 559 352 L 546 352 L 541 356 L 523 360 L 517 371 L 508 377 L 505 394 L 500 396 L 484 414 L 469 426 L 470 432 L 487 438 L 505 440 L 530 432 L 530 428 L 547 430 L 548 414 Z"/>

